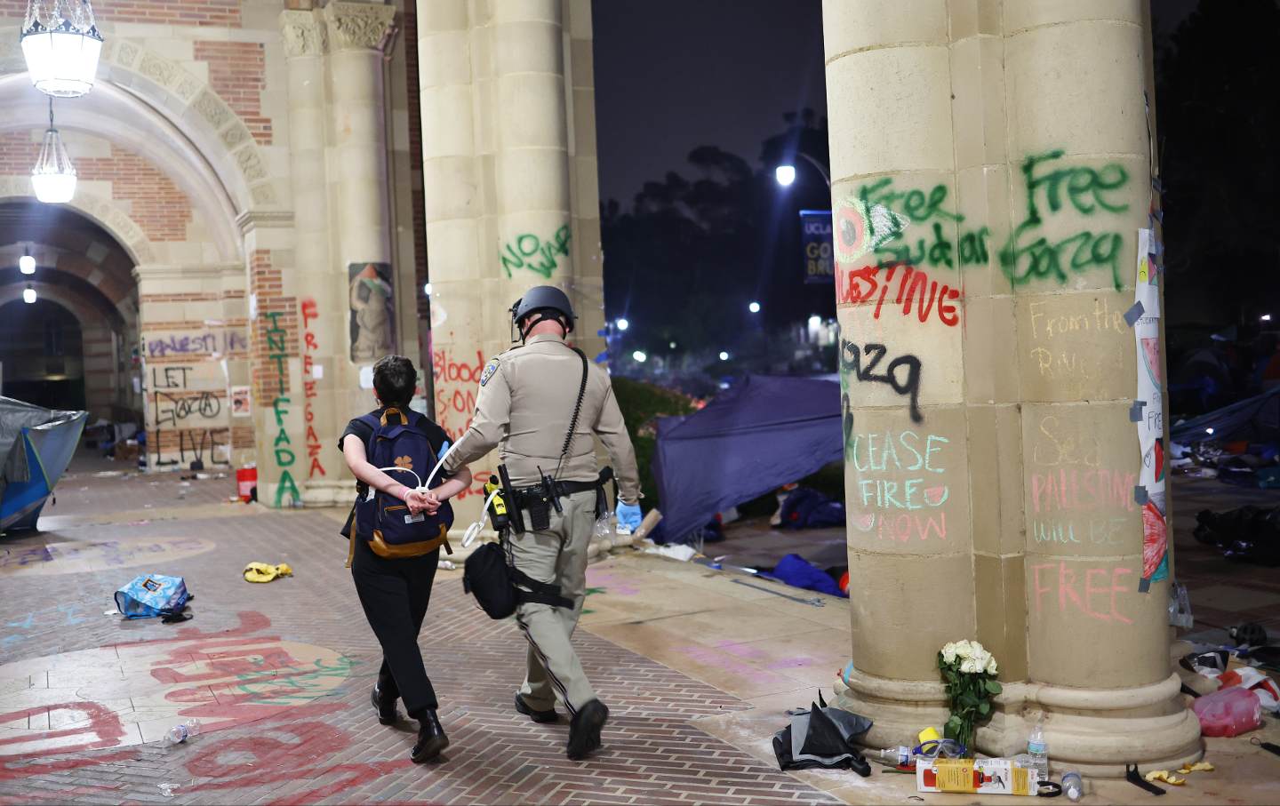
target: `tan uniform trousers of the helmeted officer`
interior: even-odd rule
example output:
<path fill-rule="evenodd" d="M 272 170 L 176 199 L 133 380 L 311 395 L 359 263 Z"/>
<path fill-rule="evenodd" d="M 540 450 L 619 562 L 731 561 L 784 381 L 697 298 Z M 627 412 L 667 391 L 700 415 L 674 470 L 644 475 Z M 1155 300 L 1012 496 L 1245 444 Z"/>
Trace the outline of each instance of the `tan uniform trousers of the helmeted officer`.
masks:
<path fill-rule="evenodd" d="M 529 673 L 520 687 L 521 697 L 531 709 L 548 710 L 559 695 L 572 715 L 596 699 L 570 641 L 586 596 L 586 549 L 595 528 L 595 493 L 575 493 L 559 500 L 564 512 L 552 509 L 547 531 L 512 535 L 511 558 L 534 580 L 559 585 L 561 595 L 573 601 L 572 610 L 538 603 L 516 609 L 516 622 L 529 638 Z M 526 513 L 526 526 L 527 518 Z"/>

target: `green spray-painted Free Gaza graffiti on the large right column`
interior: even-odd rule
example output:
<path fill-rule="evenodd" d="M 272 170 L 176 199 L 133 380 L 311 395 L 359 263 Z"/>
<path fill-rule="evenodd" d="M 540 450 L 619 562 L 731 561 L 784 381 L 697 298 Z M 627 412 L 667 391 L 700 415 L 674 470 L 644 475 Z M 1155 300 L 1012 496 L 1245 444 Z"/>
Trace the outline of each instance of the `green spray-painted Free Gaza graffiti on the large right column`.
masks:
<path fill-rule="evenodd" d="M 1000 251 L 1001 269 L 1014 287 L 1046 278 L 1062 285 L 1074 274 L 1107 269 L 1116 290 L 1120 290 L 1124 238 L 1119 232 L 1080 229 L 1051 242 L 1044 235 L 1044 225 L 1065 214 L 1091 221 L 1098 217 L 1106 226 L 1108 216 L 1129 209 L 1128 202 L 1117 198 L 1129 184 L 1129 171 L 1119 162 L 1101 168 L 1064 166 L 1056 162 L 1064 154 L 1055 150 L 1023 160 L 1027 217 L 1014 228 Z"/>

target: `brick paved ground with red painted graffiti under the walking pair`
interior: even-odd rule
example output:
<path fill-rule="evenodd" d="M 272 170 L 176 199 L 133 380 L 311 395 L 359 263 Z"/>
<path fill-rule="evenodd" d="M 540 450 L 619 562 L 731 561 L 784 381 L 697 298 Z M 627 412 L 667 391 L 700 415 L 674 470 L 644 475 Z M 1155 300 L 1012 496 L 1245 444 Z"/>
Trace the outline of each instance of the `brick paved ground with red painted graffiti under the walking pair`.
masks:
<path fill-rule="evenodd" d="M 453 743 L 444 761 L 412 765 L 412 723 L 384 728 L 367 702 L 379 652 L 332 514 L 227 504 L 210 517 L 230 480 L 192 482 L 183 502 L 175 476 L 151 481 L 73 475 L 51 510 L 56 531 L 0 544 L 0 802 L 836 802 L 696 727 L 742 701 L 585 632 L 577 644 L 612 718 L 605 748 L 585 764 L 568 761 L 566 724 L 534 725 L 512 713 L 525 644 L 509 622 L 474 608 L 457 572 L 438 577 L 422 641 Z M 67 542 L 74 550 L 56 545 Z M 20 554 L 47 544 L 47 554 Z M 18 567 L 19 555 L 36 559 Z M 248 560 L 287 560 L 296 577 L 246 583 Z M 59 563 L 73 572 L 56 573 Z M 186 577 L 193 620 L 104 615 L 113 591 L 146 571 Z M 305 645 L 347 661 L 279 677 Z M 116 649 L 81 652 L 97 647 Z M 32 659 L 65 652 L 78 654 L 27 676 Z M 6 667 L 23 677 L 6 677 Z M 262 676 L 275 682 L 262 687 Z M 311 687 L 325 681 L 315 696 Z M 55 684 L 78 692 L 77 701 L 38 699 L 40 686 Z M 169 686 L 165 701 L 143 702 L 146 686 Z M 90 697 L 101 707 L 86 705 Z M 138 725 L 122 727 L 119 716 L 148 707 L 198 714 L 215 729 L 172 748 L 140 743 L 131 733 Z M 172 801 L 161 783 L 178 784 Z"/>

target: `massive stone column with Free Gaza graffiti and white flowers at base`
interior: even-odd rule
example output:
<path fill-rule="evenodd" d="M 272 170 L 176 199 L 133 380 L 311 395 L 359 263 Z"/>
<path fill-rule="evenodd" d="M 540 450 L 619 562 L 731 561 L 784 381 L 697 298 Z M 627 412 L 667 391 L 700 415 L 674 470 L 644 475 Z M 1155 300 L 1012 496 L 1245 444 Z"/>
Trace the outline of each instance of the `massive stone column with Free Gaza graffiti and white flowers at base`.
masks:
<path fill-rule="evenodd" d="M 842 704 L 874 743 L 945 720 L 936 654 L 975 637 L 1006 682 L 984 752 L 1018 752 L 1043 715 L 1055 764 L 1092 774 L 1199 754 L 1167 582 L 1139 590 L 1146 368 L 1124 313 L 1152 226 L 1142 8 L 824 3 Z"/>

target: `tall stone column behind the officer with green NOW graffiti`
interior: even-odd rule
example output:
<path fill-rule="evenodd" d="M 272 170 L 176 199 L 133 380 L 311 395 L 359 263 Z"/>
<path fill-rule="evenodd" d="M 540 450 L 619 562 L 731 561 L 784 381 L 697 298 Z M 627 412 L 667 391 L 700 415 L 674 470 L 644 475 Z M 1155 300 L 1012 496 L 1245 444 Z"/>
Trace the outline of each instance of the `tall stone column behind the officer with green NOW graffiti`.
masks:
<path fill-rule="evenodd" d="M 590 9 L 419 0 L 417 10 L 434 411 L 458 436 L 485 362 L 511 347 L 507 308 L 525 289 L 568 290 L 584 315 L 577 340 L 599 349 L 595 132 L 570 100 L 591 123 Z M 579 256 L 594 257 L 585 279 Z M 493 462 L 472 470 L 483 478 Z M 463 496 L 460 518 L 479 499 Z"/>

